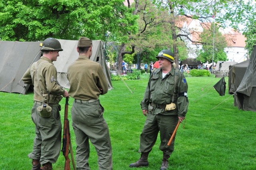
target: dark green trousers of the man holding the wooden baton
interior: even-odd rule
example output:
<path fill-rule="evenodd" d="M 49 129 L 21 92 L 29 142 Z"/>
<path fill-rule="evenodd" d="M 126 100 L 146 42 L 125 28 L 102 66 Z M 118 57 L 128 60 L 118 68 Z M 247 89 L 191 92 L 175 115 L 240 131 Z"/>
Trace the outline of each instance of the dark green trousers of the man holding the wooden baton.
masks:
<path fill-rule="evenodd" d="M 139 152 L 150 152 L 156 143 L 158 132 L 160 131 L 160 146 L 159 149 L 171 155 L 174 151 L 174 140 L 170 146 L 168 142 L 172 136 L 177 123 L 177 115 L 164 115 L 164 114 L 148 114 L 142 133 L 140 134 L 140 150 Z"/>

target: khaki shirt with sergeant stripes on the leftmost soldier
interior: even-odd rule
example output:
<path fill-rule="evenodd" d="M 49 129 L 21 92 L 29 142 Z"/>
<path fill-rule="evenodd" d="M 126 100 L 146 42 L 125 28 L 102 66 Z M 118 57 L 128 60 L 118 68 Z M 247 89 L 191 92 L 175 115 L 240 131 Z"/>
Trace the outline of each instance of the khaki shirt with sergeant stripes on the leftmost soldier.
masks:
<path fill-rule="evenodd" d="M 34 85 L 34 101 L 42 102 L 43 94 L 53 94 L 54 100 L 49 103 L 57 104 L 62 98 L 60 95 L 65 92 L 58 85 L 55 66 L 51 60 L 44 56 L 26 70 L 22 81 L 26 84 Z"/>

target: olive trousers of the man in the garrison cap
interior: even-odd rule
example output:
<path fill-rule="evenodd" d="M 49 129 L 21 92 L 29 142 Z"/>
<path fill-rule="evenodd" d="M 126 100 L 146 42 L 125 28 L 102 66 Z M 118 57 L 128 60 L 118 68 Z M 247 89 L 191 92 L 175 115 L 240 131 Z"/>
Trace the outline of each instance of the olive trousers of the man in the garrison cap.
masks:
<path fill-rule="evenodd" d="M 71 115 L 76 136 L 76 169 L 90 170 L 89 139 L 98 154 L 99 170 L 113 170 L 112 147 L 108 125 L 103 118 L 104 108 L 100 100 L 94 102 L 76 102 L 74 100 Z"/>

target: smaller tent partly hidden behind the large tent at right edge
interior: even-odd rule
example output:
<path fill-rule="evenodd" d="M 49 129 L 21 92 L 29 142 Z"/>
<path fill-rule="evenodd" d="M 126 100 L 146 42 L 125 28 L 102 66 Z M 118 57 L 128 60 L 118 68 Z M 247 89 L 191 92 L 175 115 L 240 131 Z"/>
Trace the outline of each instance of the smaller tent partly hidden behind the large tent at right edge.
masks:
<path fill-rule="evenodd" d="M 238 64 L 234 64 L 229 66 L 229 73 L 228 73 L 228 92 L 229 94 L 234 94 L 236 89 L 240 85 L 246 69 L 248 68 L 248 64 L 250 59 L 240 62 Z"/>

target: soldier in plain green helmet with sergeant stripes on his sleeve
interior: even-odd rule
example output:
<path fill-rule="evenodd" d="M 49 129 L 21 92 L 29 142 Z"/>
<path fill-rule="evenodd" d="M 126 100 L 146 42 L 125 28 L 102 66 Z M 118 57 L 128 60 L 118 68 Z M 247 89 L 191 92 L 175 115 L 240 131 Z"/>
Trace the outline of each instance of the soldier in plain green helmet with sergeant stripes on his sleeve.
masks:
<path fill-rule="evenodd" d="M 53 61 L 62 51 L 60 42 L 47 38 L 42 43 L 42 56 L 33 63 L 22 77 L 26 84 L 34 86 L 34 105 L 31 111 L 36 126 L 33 151 L 28 154 L 32 159 L 32 170 L 51 170 L 60 154 L 61 129 L 60 105 L 62 96 L 68 92 L 57 81 L 57 71 Z M 41 167 L 42 165 L 42 167 Z"/>

